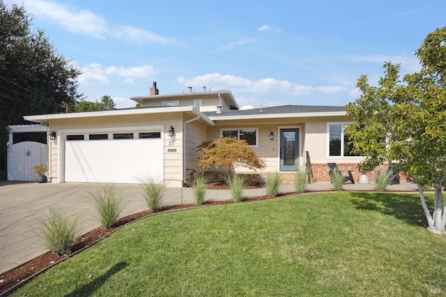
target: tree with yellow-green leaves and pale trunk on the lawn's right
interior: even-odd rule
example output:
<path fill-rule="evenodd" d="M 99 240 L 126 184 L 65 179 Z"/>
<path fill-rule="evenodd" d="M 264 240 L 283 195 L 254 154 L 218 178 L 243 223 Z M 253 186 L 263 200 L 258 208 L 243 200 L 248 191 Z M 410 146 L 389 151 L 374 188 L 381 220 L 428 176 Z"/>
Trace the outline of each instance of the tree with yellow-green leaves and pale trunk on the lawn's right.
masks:
<path fill-rule="evenodd" d="M 399 79 L 399 65 L 385 63 L 378 86 L 366 76 L 357 87 L 361 96 L 346 106 L 356 123 L 347 128 L 354 153 L 364 155 L 361 169 L 397 161 L 418 184 L 428 229 L 445 234 L 446 205 L 446 27 L 429 33 L 415 53 L 422 70 Z M 433 212 L 423 186 L 435 188 Z"/>

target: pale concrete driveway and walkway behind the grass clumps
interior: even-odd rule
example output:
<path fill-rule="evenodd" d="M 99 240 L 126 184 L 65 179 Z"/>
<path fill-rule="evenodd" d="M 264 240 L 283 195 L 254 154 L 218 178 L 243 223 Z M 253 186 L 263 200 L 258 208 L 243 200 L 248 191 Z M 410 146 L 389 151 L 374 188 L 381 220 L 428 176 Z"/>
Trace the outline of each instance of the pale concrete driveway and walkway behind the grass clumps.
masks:
<path fill-rule="evenodd" d="M 82 234 L 100 227 L 89 193 L 100 188 L 94 183 L 21 183 L 0 181 L 0 274 L 47 252 L 38 236 L 36 218 L 47 215 L 49 208 L 68 215 L 80 215 Z M 116 185 L 124 194 L 126 206 L 121 216 L 146 210 L 140 185 Z M 333 190 L 330 183 L 312 183 L 309 192 Z M 344 185 L 344 190 L 373 190 L 368 185 Z M 389 191 L 416 191 L 416 185 L 391 185 Z M 282 192 L 294 192 L 292 185 L 282 185 Z M 264 189 L 246 190 L 247 197 L 265 195 Z M 208 190 L 206 201 L 231 199 L 229 190 Z M 192 203 L 192 189 L 167 188 L 164 205 Z"/>

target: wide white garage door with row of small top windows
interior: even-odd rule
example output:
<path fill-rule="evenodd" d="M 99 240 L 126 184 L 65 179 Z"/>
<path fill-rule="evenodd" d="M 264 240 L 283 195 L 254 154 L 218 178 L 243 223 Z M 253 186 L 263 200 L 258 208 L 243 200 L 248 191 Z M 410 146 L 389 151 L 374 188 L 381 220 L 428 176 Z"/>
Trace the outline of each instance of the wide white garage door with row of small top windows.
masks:
<path fill-rule="evenodd" d="M 161 132 L 66 135 L 65 181 L 139 183 L 164 178 Z"/>

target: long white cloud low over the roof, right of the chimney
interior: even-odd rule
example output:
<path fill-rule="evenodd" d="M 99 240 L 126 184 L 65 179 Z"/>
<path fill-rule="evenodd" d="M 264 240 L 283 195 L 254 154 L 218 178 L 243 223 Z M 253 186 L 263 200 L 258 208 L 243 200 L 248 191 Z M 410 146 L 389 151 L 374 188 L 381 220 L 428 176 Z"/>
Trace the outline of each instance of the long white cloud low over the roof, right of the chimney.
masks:
<path fill-rule="evenodd" d="M 177 82 L 184 86 L 212 86 L 213 89 L 230 89 L 249 93 L 279 92 L 291 96 L 302 96 L 313 91 L 320 91 L 321 93 L 339 93 L 345 91 L 345 88 L 341 86 L 307 86 L 270 77 L 252 81 L 243 77 L 221 75 L 220 73 L 200 75 L 191 79 L 178 77 Z M 252 102 L 249 101 L 242 101 L 240 103 L 242 105 L 252 105 Z"/>

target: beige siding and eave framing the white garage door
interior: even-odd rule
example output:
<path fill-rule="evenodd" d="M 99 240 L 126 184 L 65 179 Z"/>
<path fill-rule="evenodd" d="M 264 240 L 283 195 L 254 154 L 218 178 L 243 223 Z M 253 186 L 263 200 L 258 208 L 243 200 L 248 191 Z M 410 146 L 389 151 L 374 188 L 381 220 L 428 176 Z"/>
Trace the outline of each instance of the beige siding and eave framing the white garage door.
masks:
<path fill-rule="evenodd" d="M 141 114 L 131 116 L 101 116 L 88 119 L 64 119 L 52 120 L 50 123 L 52 130 L 57 132 L 60 142 L 66 133 L 70 130 L 87 129 L 116 129 L 129 128 L 131 132 L 134 128 L 144 128 L 152 126 L 164 127 L 164 182 L 171 186 L 180 186 L 183 179 L 183 125 L 180 113 L 173 114 Z M 169 128 L 175 129 L 175 137 L 169 137 Z M 65 134 L 63 134 L 65 132 Z M 61 169 L 59 168 L 59 146 L 60 144 L 51 144 L 51 172 L 50 176 L 53 182 L 59 182 Z M 169 148 L 176 149 L 175 152 L 169 152 Z M 63 161 L 63 160 L 61 160 Z M 63 164 L 63 162 L 60 162 Z M 62 165 L 63 166 L 63 165 Z"/>

